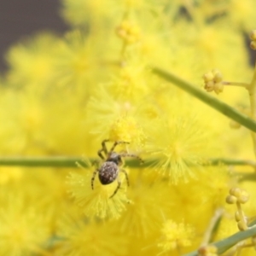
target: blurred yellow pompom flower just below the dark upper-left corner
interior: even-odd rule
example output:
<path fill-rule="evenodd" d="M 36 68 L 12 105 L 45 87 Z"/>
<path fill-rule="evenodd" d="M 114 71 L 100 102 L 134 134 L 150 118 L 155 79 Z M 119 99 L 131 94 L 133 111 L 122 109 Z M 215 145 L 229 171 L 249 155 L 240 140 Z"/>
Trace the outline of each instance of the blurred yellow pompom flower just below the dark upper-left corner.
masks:
<path fill-rule="evenodd" d="M 7 61 L 11 67 L 9 83 L 17 87 L 48 87 L 55 76 L 55 53 L 59 38 L 43 33 L 17 44 L 9 50 Z"/>

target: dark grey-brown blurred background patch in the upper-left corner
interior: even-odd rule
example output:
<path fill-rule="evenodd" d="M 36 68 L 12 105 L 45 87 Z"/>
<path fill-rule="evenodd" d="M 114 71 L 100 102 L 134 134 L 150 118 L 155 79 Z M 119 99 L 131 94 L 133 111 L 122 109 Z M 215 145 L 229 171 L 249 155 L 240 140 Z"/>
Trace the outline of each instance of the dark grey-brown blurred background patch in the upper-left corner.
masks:
<path fill-rule="evenodd" d="M 5 52 L 12 44 L 36 32 L 65 32 L 67 24 L 59 15 L 57 0 L 0 1 L 0 73 L 7 70 Z"/>

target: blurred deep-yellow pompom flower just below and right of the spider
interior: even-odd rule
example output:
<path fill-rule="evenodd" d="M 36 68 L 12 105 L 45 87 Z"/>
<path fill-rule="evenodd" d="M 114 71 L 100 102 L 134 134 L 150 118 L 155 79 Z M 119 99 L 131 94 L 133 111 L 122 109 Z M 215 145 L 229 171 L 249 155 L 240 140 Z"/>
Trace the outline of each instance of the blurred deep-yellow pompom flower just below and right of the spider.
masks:
<path fill-rule="evenodd" d="M 155 172 L 148 174 L 148 170 L 132 169 L 129 179 L 127 195 L 131 203 L 114 226 L 130 237 L 155 236 L 163 216 L 175 206 L 172 191 L 166 181 L 160 181 Z"/>

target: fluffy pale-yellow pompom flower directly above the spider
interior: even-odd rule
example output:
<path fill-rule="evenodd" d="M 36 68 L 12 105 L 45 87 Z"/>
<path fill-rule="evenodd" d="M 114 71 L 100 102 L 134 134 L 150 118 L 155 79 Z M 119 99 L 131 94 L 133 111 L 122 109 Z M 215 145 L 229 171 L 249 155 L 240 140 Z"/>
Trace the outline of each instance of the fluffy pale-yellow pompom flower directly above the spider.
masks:
<path fill-rule="evenodd" d="M 102 85 L 95 96 L 91 96 L 87 111 L 88 129 L 97 138 L 126 141 L 131 147 L 142 148 L 146 137 L 143 117 L 137 112 L 134 101 L 119 100 L 109 93 L 107 85 Z"/>

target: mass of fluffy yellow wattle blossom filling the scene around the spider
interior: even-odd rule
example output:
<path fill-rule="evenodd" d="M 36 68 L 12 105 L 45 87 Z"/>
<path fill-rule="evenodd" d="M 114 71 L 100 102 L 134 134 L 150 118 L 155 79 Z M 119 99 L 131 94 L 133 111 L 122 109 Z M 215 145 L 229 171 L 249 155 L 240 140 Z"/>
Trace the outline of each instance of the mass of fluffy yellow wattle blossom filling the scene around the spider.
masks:
<path fill-rule="evenodd" d="M 223 217 L 207 243 L 236 232 L 225 196 L 247 168 L 211 160 L 253 159 L 249 132 L 230 130 L 226 117 L 152 67 L 200 90 L 201 74 L 215 68 L 204 80 L 216 93 L 223 90 L 216 67 L 227 79 L 247 81 L 251 6 L 253 0 L 62 0 L 70 31 L 12 46 L 0 79 L 0 164 L 10 156 L 84 160 L 72 168 L 0 167 L 0 256 L 180 256 L 206 245 L 218 209 Z M 241 88 L 220 97 L 248 104 Z M 114 145 L 119 141 L 125 143 Z M 124 165 L 102 184 L 113 146 Z M 125 164 L 125 155 L 138 159 Z M 249 182 L 241 187 L 255 199 Z M 247 212 L 255 215 L 253 203 Z M 211 249 L 202 255 L 217 252 L 204 248 Z"/>

